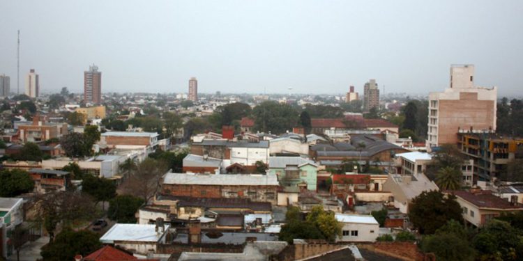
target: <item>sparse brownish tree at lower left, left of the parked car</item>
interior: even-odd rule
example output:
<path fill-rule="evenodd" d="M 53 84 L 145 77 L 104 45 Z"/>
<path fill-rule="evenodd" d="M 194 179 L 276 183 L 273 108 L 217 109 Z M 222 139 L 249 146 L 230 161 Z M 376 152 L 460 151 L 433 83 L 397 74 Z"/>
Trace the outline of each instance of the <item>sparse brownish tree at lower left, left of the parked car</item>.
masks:
<path fill-rule="evenodd" d="M 89 196 L 76 191 L 52 191 L 38 194 L 33 200 L 38 221 L 49 233 L 50 242 L 59 223 L 63 227 L 77 221 L 90 221 L 94 213 L 94 204 Z"/>

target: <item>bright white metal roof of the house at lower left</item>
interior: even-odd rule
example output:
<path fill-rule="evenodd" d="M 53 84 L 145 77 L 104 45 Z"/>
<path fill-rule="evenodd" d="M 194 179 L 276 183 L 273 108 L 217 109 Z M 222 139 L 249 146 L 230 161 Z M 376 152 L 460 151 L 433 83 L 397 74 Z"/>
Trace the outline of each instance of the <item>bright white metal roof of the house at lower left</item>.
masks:
<path fill-rule="evenodd" d="M 156 232 L 156 225 L 115 224 L 100 237 L 103 244 L 114 244 L 115 241 L 158 242 L 164 233 Z M 165 231 L 169 225 L 165 225 Z"/>

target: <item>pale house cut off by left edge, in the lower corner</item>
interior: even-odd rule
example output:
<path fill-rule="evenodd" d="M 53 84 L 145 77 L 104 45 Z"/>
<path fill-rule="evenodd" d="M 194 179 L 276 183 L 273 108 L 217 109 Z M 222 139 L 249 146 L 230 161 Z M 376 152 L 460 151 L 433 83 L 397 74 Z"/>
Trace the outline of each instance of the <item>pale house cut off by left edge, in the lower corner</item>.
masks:
<path fill-rule="evenodd" d="M 14 253 L 13 230 L 24 221 L 24 200 L 22 198 L 0 198 L 0 258 L 7 258 Z"/>

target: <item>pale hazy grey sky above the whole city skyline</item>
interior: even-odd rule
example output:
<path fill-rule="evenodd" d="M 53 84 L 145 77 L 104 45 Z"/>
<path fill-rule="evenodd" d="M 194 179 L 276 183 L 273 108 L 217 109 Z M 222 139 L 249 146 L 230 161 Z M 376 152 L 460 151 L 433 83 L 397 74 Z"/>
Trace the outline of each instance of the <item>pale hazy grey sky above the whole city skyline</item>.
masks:
<path fill-rule="evenodd" d="M 523 90 L 523 1 L 0 1 L 0 74 L 30 68 L 42 92 L 427 94 L 453 63 L 499 95 Z"/>

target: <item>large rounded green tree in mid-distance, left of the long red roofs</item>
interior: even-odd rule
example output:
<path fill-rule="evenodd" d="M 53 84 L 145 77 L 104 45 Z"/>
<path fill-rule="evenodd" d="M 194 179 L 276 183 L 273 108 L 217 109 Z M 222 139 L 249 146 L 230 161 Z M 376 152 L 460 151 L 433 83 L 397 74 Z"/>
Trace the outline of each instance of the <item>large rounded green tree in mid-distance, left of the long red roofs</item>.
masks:
<path fill-rule="evenodd" d="M 254 129 L 260 132 L 281 134 L 296 126 L 298 111 L 289 104 L 262 102 L 252 110 L 255 118 Z"/>

